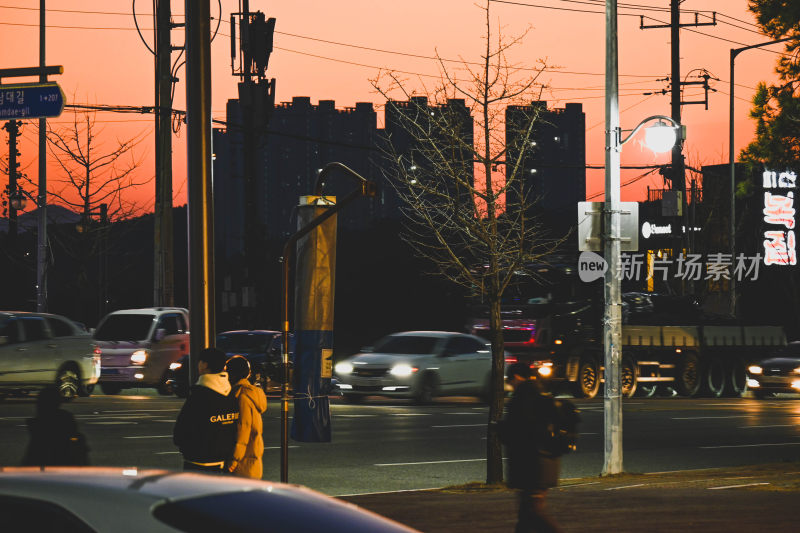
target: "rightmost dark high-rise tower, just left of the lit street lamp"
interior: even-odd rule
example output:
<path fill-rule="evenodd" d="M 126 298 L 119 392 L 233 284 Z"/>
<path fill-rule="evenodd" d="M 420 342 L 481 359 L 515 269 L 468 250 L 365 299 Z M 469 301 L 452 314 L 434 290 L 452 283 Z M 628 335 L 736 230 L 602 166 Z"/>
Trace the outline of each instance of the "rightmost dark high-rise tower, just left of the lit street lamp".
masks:
<path fill-rule="evenodd" d="M 547 102 L 506 108 L 506 166 L 519 159 L 520 138 L 534 118 L 522 160 L 520 187 L 527 209 L 540 217 L 552 237 L 565 235 L 577 223 L 577 204 L 586 200 L 586 115 L 583 106 L 568 103 L 547 108 Z M 506 170 L 508 172 L 508 169 Z M 506 209 L 520 208 L 519 189 L 506 194 Z M 570 242 L 573 242 L 571 239 Z"/>

